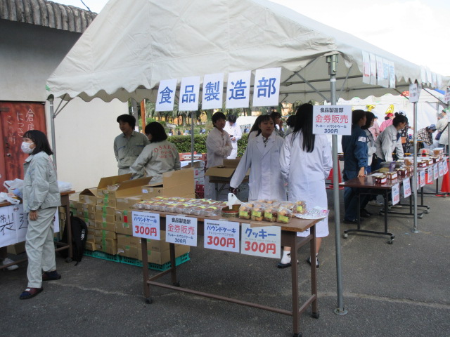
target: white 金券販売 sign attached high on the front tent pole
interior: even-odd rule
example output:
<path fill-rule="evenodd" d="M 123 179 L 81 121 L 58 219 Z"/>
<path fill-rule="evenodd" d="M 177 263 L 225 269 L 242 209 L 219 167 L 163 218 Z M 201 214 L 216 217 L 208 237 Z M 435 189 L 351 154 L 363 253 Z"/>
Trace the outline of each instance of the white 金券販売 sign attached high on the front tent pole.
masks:
<path fill-rule="evenodd" d="M 314 105 L 312 132 L 315 135 L 349 135 L 352 133 L 350 105 Z"/>

